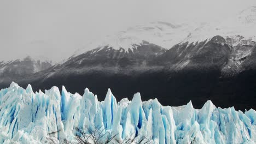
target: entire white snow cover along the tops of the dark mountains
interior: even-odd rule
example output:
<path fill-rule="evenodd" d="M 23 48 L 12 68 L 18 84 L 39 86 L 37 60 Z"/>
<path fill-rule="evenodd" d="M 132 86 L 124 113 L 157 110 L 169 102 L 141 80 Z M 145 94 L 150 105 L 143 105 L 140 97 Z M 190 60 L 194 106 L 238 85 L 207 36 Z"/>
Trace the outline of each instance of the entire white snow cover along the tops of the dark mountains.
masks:
<path fill-rule="evenodd" d="M 88 50 L 103 48 L 106 46 L 119 50 L 120 47 L 126 52 L 141 45 L 143 41 L 159 45 L 166 49 L 178 43 L 196 43 L 210 40 L 216 35 L 224 38 L 236 39 L 241 35 L 243 40 L 256 41 L 256 7 L 252 6 L 242 10 L 235 16 L 230 16 L 225 21 L 199 22 L 151 22 L 144 25 L 127 28 L 117 34 L 107 35 L 102 39 L 92 41 L 75 52 L 74 56 L 80 55 Z M 237 44 L 237 43 L 235 43 Z"/>

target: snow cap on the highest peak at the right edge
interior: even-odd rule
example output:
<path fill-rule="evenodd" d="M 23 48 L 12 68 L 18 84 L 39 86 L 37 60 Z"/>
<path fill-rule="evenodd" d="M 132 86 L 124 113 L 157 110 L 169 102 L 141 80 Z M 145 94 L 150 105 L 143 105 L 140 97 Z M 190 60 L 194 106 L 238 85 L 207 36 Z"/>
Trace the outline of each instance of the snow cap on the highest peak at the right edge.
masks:
<path fill-rule="evenodd" d="M 241 35 L 243 40 L 256 41 L 254 31 L 256 31 L 256 7 L 249 7 L 242 10 L 236 16 L 230 16 L 225 21 L 204 22 L 197 25 L 197 28 L 185 38 L 183 41 L 196 43 L 211 39 L 216 35 L 226 38 L 236 39 L 237 35 Z M 237 43 L 235 43 L 237 44 Z"/>

